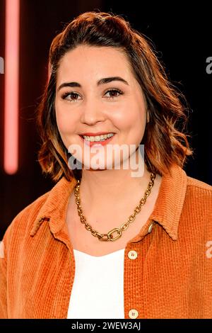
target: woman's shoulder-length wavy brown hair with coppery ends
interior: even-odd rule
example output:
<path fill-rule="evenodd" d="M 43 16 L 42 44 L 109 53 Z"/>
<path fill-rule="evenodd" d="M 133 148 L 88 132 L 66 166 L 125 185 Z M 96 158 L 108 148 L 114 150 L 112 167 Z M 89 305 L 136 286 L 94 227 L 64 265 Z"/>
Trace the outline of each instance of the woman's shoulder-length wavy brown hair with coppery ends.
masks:
<path fill-rule="evenodd" d="M 78 45 L 116 47 L 124 52 L 146 99 L 149 123 L 141 144 L 148 171 L 160 176 L 170 171 L 172 164 L 183 167 L 193 151 L 185 133 L 188 103 L 181 92 L 167 79 L 165 69 L 156 56 L 151 41 L 131 28 L 122 16 L 89 11 L 66 24 L 52 40 L 49 49 L 50 76 L 37 108 L 37 127 L 42 140 L 38 162 L 42 172 L 53 181 L 62 176 L 67 180 L 81 178 L 82 170 L 71 170 L 68 152 L 57 128 L 54 101 L 57 69 L 66 52 Z M 179 129 L 180 127 L 181 130 Z"/>

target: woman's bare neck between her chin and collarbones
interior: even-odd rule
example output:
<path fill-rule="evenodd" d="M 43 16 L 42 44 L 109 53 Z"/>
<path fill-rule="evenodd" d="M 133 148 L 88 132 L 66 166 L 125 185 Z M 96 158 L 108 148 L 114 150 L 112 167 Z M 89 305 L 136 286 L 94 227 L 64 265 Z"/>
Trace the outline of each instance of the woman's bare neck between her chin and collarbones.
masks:
<path fill-rule="evenodd" d="M 139 177 L 131 176 L 131 172 L 135 172 L 132 169 L 83 169 L 80 186 L 83 207 L 114 210 L 127 203 L 138 203 L 151 180 L 151 173 L 144 162 L 143 165 L 143 175 Z"/>

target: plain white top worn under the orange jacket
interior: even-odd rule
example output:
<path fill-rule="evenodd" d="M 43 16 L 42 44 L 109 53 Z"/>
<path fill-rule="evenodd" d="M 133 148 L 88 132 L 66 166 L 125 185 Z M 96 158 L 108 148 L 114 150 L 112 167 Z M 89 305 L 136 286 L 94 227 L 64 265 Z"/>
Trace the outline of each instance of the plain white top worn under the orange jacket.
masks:
<path fill-rule="evenodd" d="M 73 253 L 76 271 L 67 319 L 124 318 L 124 249 L 105 256 Z"/>

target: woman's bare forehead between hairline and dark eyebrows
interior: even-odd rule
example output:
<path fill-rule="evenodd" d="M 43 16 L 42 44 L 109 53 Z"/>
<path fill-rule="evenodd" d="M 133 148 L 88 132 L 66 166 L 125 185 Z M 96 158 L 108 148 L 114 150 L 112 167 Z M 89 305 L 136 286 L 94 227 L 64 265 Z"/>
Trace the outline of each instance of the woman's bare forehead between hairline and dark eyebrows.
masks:
<path fill-rule="evenodd" d="M 115 47 L 80 45 L 66 52 L 59 62 L 57 79 L 75 77 L 96 79 L 102 76 L 122 76 L 132 79 L 129 60 Z"/>

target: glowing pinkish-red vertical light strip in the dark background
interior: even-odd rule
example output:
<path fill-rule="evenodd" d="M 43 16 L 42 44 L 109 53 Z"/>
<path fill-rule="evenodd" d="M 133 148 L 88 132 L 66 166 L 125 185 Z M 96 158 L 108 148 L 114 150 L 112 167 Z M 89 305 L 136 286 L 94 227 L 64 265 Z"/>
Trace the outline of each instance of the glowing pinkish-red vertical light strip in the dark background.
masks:
<path fill-rule="evenodd" d="M 18 77 L 20 0 L 6 0 L 4 170 L 18 170 Z"/>

